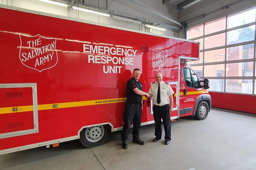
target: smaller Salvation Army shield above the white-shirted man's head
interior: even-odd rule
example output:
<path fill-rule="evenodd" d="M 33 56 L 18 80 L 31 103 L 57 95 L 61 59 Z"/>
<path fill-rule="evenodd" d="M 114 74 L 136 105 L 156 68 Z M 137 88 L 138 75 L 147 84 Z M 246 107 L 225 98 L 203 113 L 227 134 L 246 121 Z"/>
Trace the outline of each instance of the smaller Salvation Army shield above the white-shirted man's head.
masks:
<path fill-rule="evenodd" d="M 168 51 L 153 50 L 152 67 L 159 73 L 168 68 Z"/>

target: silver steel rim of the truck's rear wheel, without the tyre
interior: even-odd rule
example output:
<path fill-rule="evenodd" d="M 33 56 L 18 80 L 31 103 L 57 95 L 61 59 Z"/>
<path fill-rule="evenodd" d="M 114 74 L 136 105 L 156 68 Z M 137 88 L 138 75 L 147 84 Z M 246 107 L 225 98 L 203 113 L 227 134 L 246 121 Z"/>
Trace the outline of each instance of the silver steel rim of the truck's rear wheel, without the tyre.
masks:
<path fill-rule="evenodd" d="M 89 127 L 86 130 L 86 139 L 90 142 L 99 141 L 104 134 L 104 128 L 102 125 Z"/>

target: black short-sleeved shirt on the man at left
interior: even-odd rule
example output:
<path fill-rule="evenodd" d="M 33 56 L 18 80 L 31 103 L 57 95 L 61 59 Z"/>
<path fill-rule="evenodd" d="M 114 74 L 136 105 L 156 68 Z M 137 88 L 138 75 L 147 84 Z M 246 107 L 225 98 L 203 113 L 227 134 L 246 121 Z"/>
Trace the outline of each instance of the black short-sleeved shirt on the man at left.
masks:
<path fill-rule="evenodd" d="M 138 88 L 143 90 L 142 83 L 136 81 L 133 77 L 127 81 L 127 102 L 131 103 L 141 103 L 142 96 L 136 94 L 133 89 Z"/>

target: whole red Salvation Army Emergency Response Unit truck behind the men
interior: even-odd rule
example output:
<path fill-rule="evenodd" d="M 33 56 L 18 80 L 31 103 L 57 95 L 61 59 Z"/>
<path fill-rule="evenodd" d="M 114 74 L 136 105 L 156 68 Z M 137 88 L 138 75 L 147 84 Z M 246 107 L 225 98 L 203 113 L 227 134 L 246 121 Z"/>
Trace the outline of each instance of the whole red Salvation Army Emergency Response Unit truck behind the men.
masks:
<path fill-rule="evenodd" d="M 126 83 L 141 70 L 175 92 L 171 120 L 211 108 L 208 80 L 185 64 L 199 43 L 0 6 L 0 154 L 79 139 L 85 147 L 122 129 Z M 143 97 L 142 125 L 154 123 Z M 132 126 L 132 125 L 131 125 Z"/>

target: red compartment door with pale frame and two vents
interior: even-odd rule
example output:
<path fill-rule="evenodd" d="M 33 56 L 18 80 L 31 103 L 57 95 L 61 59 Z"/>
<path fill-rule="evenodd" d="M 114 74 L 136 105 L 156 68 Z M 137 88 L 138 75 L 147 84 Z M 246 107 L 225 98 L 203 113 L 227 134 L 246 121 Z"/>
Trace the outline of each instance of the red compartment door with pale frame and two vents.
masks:
<path fill-rule="evenodd" d="M 0 84 L 0 138 L 38 132 L 36 84 Z"/>

